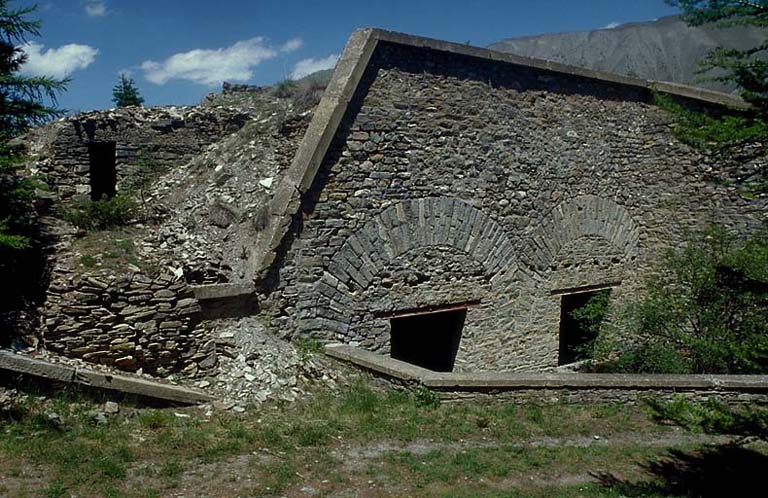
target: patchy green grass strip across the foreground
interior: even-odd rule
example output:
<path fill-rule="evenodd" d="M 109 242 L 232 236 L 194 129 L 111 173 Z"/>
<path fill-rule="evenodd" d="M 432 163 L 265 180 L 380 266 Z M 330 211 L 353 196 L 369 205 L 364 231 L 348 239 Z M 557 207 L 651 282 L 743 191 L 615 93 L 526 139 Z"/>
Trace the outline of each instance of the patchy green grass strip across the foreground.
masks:
<path fill-rule="evenodd" d="M 436 405 L 425 398 L 361 381 L 292 405 L 210 418 L 128 403 L 104 425 L 92 422 L 88 400 L 35 401 L 22 415 L 0 419 L 0 494 L 130 498 L 186 489 L 267 497 L 301 495 L 309 486 L 318 496 L 345 489 L 367 490 L 360 496 L 620 496 L 619 487 L 590 473 L 651 479 L 647 462 L 672 447 L 696 451 L 631 438 L 583 444 L 594 435 L 672 433 L 642 407 Z M 574 485 L 569 476 L 585 480 Z"/>

